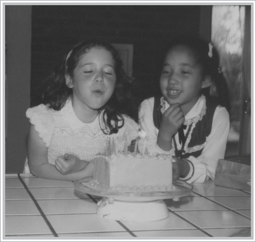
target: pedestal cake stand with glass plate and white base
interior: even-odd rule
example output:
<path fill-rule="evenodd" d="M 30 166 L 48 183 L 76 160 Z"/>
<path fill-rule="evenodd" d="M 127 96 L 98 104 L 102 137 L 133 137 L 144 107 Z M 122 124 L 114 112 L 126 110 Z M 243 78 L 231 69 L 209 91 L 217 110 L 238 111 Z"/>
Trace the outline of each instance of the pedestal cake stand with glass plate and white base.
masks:
<path fill-rule="evenodd" d="M 193 188 L 178 180 L 170 191 L 119 192 L 92 188 L 89 181 L 88 178 L 76 180 L 74 186 L 80 192 L 103 197 L 97 203 L 97 214 L 118 221 L 146 222 L 167 218 L 169 212 L 162 199 L 172 198 L 177 201 L 189 195 Z"/>

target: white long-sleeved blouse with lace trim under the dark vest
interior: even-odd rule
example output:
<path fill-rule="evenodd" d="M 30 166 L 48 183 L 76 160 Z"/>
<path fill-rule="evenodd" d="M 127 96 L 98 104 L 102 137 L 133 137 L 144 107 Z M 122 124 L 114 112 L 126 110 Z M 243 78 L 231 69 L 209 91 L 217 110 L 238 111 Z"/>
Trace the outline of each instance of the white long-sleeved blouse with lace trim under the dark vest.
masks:
<path fill-rule="evenodd" d="M 164 98 L 161 98 L 161 106 L 162 113 L 164 113 L 165 110 L 169 107 L 169 104 L 165 101 Z M 153 123 L 153 107 L 154 98 L 148 98 L 141 103 L 139 108 L 139 124 L 140 128 L 146 132 L 147 150 L 155 153 L 175 155 L 175 148 L 173 142 L 172 149 L 168 152 L 162 150 L 156 144 L 159 130 L 155 127 Z M 189 125 L 192 124 L 190 133 L 184 146 L 185 153 L 191 153 L 197 150 L 201 150 L 203 148 L 200 156 L 189 156 L 188 158 L 188 160 L 190 160 L 195 167 L 194 175 L 187 181 L 189 183 L 203 183 L 206 182 L 209 178 L 213 180 L 218 160 L 223 159 L 225 155 L 230 124 L 228 111 L 226 110 L 226 108 L 221 106 L 217 106 L 217 108 L 215 109 L 215 113 L 212 120 L 212 130 L 209 136 L 206 138 L 205 143 L 191 148 L 188 147 L 195 124 L 199 120 L 202 120 L 202 117 L 205 115 L 205 112 L 205 96 L 202 95 L 195 103 L 195 105 L 192 107 L 192 109 L 185 116 L 184 124 L 187 125 L 186 130 L 184 130 L 185 135 L 189 129 Z M 177 144 L 177 149 L 180 150 L 181 144 L 179 144 L 178 133 L 175 135 L 175 140 Z M 142 147 L 142 143 L 143 141 L 140 141 L 138 143 L 139 149 L 140 147 Z M 192 171 L 191 173 L 188 174 L 186 178 L 189 178 L 191 174 Z"/>

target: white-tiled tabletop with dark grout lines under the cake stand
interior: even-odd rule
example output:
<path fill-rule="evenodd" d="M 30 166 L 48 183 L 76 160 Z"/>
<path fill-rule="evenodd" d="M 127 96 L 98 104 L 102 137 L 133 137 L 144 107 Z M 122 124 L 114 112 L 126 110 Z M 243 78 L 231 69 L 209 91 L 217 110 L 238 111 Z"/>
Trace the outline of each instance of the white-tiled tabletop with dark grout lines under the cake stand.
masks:
<path fill-rule="evenodd" d="M 5 237 L 251 236 L 249 192 L 212 181 L 193 185 L 178 202 L 164 200 L 168 218 L 120 222 L 97 215 L 100 198 L 77 191 L 73 182 L 6 174 Z"/>

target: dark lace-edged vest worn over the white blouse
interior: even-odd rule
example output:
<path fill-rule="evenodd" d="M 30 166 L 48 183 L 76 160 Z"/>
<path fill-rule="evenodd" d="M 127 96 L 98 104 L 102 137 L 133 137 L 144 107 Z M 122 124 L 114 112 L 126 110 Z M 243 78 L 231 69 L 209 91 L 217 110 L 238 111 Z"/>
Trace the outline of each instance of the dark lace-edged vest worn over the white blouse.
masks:
<path fill-rule="evenodd" d="M 156 128 L 159 129 L 161 121 L 162 121 L 162 113 L 160 105 L 160 99 L 161 96 L 155 97 L 154 100 L 154 108 L 153 108 L 153 121 Z M 196 145 L 202 145 L 206 141 L 206 137 L 209 136 L 212 130 L 212 119 L 215 112 L 216 107 L 218 106 L 218 103 L 211 98 L 206 98 L 206 112 L 205 115 L 202 117 L 202 120 L 198 121 L 195 124 L 195 128 L 192 131 L 191 139 L 189 141 L 188 147 L 194 147 Z M 188 130 L 190 132 L 190 130 Z M 188 134 L 188 133 L 187 133 Z M 174 146 L 176 147 L 176 141 L 174 140 L 174 137 L 172 139 L 172 142 L 174 142 Z M 175 156 L 178 156 L 182 159 L 186 159 L 189 156 L 198 157 L 201 155 L 202 150 L 197 150 L 192 153 L 185 153 L 184 150 L 177 150 L 175 149 Z"/>

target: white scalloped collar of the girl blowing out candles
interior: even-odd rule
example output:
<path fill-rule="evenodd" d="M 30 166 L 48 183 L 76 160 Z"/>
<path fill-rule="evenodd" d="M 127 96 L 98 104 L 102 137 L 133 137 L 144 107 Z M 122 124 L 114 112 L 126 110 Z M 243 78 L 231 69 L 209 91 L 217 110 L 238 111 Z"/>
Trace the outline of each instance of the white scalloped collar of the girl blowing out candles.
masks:
<path fill-rule="evenodd" d="M 100 119 L 102 119 L 102 115 L 98 115 L 91 123 L 82 122 L 74 112 L 71 98 L 67 99 L 65 106 L 61 109 L 61 115 L 75 132 L 79 132 L 81 129 L 88 129 L 93 134 L 97 134 L 101 130 L 102 122 L 100 122 Z"/>

